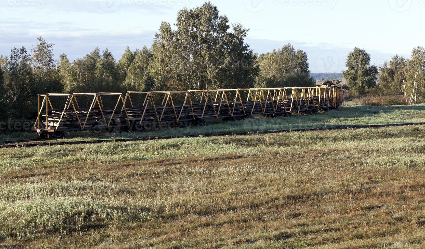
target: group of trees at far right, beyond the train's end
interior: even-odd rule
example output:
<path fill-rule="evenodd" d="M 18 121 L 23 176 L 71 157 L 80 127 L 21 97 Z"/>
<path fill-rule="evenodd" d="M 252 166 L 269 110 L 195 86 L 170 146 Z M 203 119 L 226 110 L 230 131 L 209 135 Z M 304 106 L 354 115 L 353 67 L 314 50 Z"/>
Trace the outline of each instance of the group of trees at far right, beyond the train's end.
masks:
<path fill-rule="evenodd" d="M 370 61 L 364 49 L 356 47 L 349 53 L 343 75 L 353 94 L 401 94 L 406 105 L 424 101 L 425 48 L 415 47 L 410 58 L 394 55 L 379 68 Z"/>

